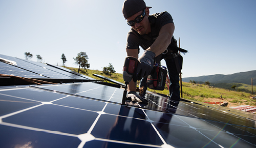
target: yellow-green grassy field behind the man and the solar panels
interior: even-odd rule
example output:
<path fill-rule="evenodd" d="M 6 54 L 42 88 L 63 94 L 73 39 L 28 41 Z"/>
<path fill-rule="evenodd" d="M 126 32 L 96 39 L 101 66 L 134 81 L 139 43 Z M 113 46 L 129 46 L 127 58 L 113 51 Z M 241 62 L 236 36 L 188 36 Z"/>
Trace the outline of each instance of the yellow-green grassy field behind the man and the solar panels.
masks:
<path fill-rule="evenodd" d="M 73 70 L 75 72 L 77 72 L 78 70 L 77 68 L 70 68 L 70 67 L 66 67 L 66 68 Z M 99 78 L 93 76 L 93 74 L 99 74 L 99 75 L 109 77 L 111 79 L 124 83 L 122 74 L 119 74 L 119 73 L 106 75 L 99 70 L 87 70 L 86 73 L 82 73 L 82 74 L 95 79 L 99 79 Z M 241 85 L 241 86 L 239 85 L 239 87 L 244 87 L 244 85 Z M 189 99 L 189 100 L 195 100 L 199 102 L 228 102 L 227 107 L 238 106 L 243 104 L 256 106 L 256 100 L 251 99 L 253 96 L 250 93 L 242 92 L 242 91 L 238 92 L 237 88 L 236 90 L 227 90 L 224 88 L 212 87 L 205 84 L 182 82 L 182 90 L 183 90 L 182 91 L 183 98 Z M 155 91 L 150 89 L 148 89 L 148 91 L 156 92 L 164 95 L 169 94 L 169 91 L 166 85 L 165 85 L 164 91 Z"/>

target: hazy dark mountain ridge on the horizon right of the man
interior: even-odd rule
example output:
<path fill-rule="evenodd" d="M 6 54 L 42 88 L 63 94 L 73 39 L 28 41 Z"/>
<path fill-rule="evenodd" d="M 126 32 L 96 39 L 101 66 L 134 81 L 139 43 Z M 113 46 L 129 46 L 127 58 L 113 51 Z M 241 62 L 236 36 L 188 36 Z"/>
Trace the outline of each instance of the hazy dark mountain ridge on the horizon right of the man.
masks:
<path fill-rule="evenodd" d="M 206 82 L 209 81 L 210 83 L 244 83 L 244 84 L 251 84 L 251 78 L 256 78 L 256 70 L 248 71 L 248 72 L 240 72 L 234 73 L 230 75 L 209 75 L 209 76 L 199 76 L 199 77 L 187 77 L 182 78 L 182 81 L 189 82 L 196 81 L 196 82 Z M 256 81 L 254 82 L 254 85 Z"/>

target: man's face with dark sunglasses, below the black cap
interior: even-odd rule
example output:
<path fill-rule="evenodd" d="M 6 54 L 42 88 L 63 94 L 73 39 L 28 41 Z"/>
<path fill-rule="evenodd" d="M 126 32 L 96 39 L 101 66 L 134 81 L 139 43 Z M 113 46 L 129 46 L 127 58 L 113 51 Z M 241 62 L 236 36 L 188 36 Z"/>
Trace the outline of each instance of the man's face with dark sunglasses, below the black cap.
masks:
<path fill-rule="evenodd" d="M 137 12 L 133 16 L 127 18 L 127 21 L 133 21 L 136 17 L 140 16 L 142 12 L 143 11 Z M 132 28 L 135 29 L 135 31 L 138 32 L 140 35 L 149 34 L 151 32 L 150 21 L 147 18 L 149 14 L 148 8 L 146 8 L 145 13 L 146 14 L 143 20 L 139 23 L 135 23 L 135 25 L 132 26 Z"/>

